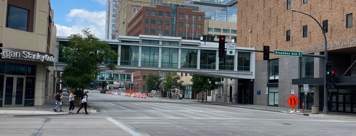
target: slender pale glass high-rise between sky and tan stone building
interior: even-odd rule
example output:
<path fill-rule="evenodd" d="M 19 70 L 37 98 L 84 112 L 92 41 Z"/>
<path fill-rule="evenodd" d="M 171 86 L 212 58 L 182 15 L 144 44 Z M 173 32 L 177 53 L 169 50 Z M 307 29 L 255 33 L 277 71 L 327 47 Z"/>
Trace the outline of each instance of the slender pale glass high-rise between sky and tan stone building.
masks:
<path fill-rule="evenodd" d="M 105 17 L 105 39 L 116 38 L 116 14 L 119 12 L 120 0 L 107 0 Z"/>

